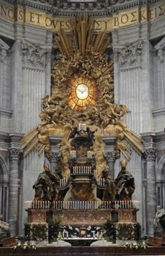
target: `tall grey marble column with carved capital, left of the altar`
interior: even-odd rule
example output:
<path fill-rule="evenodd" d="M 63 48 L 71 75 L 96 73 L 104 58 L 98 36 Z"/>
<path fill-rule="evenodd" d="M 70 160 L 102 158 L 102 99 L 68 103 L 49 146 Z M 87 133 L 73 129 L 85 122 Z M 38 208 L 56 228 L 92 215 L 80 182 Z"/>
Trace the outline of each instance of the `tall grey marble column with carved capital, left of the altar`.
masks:
<path fill-rule="evenodd" d="M 8 159 L 10 161 L 9 186 L 8 186 L 8 223 L 10 235 L 15 236 L 18 232 L 18 161 L 20 156 L 19 149 L 9 149 Z"/>

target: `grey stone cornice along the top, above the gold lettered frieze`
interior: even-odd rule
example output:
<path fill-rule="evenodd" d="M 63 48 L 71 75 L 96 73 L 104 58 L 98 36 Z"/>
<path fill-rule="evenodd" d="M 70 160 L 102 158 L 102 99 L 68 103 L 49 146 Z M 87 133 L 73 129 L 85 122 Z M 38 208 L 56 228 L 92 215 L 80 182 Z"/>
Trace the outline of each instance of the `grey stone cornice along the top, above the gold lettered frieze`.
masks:
<path fill-rule="evenodd" d="M 105 16 L 136 6 L 150 6 L 161 3 L 160 0 L 101 0 L 101 1 L 78 1 L 78 0 L 3 0 L 7 3 L 20 6 L 29 6 L 54 15 L 72 16 L 73 13 L 85 12 L 89 15 Z"/>

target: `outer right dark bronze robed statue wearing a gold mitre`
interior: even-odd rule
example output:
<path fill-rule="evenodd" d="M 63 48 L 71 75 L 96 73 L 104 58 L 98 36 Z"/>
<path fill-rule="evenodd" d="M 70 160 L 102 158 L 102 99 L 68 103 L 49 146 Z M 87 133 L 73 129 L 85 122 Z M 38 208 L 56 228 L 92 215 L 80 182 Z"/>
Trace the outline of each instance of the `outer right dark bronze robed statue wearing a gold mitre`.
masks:
<path fill-rule="evenodd" d="M 122 170 L 120 170 L 120 173 L 117 175 L 117 178 L 115 179 L 116 200 L 130 201 L 131 195 L 134 193 L 135 190 L 134 177 L 126 169 L 126 160 L 123 159 L 120 162 L 120 165 L 122 167 Z"/>

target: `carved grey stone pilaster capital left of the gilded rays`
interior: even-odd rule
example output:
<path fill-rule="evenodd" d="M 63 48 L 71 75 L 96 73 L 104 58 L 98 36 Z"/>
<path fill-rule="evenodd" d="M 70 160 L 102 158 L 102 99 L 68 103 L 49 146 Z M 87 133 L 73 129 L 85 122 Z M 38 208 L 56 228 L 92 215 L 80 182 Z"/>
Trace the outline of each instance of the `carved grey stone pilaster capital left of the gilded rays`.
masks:
<path fill-rule="evenodd" d="M 43 49 L 39 43 L 22 41 L 22 53 L 24 65 L 36 68 L 45 68 L 45 60 L 48 50 Z"/>

